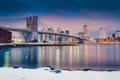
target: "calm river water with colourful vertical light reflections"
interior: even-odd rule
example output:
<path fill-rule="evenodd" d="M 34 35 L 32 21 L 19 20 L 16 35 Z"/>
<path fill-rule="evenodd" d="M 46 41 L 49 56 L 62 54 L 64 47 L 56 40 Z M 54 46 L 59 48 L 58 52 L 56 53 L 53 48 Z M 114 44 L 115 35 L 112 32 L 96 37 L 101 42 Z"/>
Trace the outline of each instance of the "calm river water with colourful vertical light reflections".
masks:
<path fill-rule="evenodd" d="M 0 66 L 120 70 L 120 45 L 86 44 L 1 48 Z"/>

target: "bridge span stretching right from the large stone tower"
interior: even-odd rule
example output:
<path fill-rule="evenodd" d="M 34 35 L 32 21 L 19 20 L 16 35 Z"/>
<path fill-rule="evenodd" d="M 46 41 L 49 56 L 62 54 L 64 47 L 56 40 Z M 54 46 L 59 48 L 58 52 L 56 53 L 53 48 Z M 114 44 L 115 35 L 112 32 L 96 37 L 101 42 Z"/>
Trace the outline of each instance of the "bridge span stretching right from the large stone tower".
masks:
<path fill-rule="evenodd" d="M 39 41 L 49 43 L 52 41 L 52 43 L 62 43 L 62 44 L 84 44 L 83 38 L 76 37 L 76 36 L 70 36 L 70 35 L 64 35 L 64 34 L 57 34 L 57 33 L 48 33 L 48 32 L 38 32 L 39 34 Z M 50 37 L 52 36 L 52 37 Z M 67 39 L 65 39 L 67 37 Z M 52 38 L 52 40 L 51 40 Z M 65 42 L 66 41 L 66 42 Z"/>

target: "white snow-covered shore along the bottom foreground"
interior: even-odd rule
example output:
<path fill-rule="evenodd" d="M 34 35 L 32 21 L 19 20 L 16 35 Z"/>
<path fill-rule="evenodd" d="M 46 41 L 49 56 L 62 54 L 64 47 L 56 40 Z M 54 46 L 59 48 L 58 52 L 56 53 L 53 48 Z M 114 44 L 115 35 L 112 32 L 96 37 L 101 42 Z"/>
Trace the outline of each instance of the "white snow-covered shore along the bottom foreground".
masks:
<path fill-rule="evenodd" d="M 68 71 L 56 70 L 51 67 L 26 68 L 0 68 L 0 80 L 120 80 L 120 71 Z M 55 72 L 54 72 L 55 71 Z"/>

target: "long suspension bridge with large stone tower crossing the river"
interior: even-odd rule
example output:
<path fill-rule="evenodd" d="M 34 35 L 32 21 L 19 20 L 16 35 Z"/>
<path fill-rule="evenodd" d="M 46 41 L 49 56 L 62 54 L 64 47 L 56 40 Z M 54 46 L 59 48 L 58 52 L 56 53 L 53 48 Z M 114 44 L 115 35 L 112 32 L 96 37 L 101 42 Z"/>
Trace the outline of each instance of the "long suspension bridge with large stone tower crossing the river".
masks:
<path fill-rule="evenodd" d="M 54 43 L 54 44 L 84 44 L 84 40 L 81 37 L 71 36 L 69 34 L 42 32 L 38 31 L 38 17 L 32 16 L 26 18 L 26 29 L 11 28 L 0 26 L 0 28 L 8 31 L 19 32 L 26 43 L 38 42 L 38 43 Z"/>

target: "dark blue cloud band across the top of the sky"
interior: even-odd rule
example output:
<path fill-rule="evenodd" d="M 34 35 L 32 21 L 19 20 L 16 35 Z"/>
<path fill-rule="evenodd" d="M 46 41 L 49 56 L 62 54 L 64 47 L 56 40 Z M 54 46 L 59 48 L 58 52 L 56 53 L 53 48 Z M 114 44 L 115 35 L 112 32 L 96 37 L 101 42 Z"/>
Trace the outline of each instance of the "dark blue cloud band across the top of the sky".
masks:
<path fill-rule="evenodd" d="M 70 15 L 82 14 L 81 9 L 116 13 L 120 11 L 119 3 L 119 0 L 1 0 L 0 14 L 49 14 L 59 10 L 61 15 L 67 15 L 60 9 L 68 11 Z"/>

